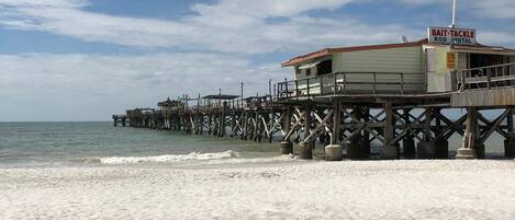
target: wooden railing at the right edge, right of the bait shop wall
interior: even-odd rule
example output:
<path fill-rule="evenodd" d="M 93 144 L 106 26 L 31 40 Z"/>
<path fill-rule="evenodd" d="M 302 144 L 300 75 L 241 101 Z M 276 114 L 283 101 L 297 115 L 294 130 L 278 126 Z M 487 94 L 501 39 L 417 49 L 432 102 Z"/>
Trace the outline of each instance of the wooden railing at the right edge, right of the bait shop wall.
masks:
<path fill-rule="evenodd" d="M 515 62 L 458 70 L 452 81 L 460 91 L 515 85 Z"/>

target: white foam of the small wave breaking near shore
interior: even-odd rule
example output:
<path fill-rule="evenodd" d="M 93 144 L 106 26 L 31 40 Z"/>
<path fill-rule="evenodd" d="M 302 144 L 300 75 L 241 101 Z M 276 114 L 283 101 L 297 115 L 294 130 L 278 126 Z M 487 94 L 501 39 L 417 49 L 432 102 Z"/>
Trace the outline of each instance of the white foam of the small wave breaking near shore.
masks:
<path fill-rule="evenodd" d="M 170 163 L 180 161 L 210 161 L 220 159 L 232 159 L 238 157 L 238 152 L 227 150 L 224 152 L 216 153 L 191 152 L 188 154 L 165 154 L 149 157 L 108 157 L 100 158 L 99 161 L 103 164 Z"/>

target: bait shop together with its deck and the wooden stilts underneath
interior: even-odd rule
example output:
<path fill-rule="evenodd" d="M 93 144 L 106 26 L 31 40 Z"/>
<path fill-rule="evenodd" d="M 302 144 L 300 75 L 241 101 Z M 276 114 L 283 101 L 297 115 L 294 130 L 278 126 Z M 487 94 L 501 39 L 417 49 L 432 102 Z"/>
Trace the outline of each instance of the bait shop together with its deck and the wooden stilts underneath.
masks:
<path fill-rule="evenodd" d="M 342 144 L 347 158 L 367 158 L 371 140 L 383 144 L 382 158 L 399 158 L 401 142 L 404 158 L 415 151 L 418 158 L 447 158 L 455 131 L 463 136 L 457 158 L 484 158 L 484 142 L 495 131 L 506 138 L 506 155 L 514 157 L 515 49 L 486 46 L 475 36 L 470 28 L 429 27 L 427 38 L 416 42 L 325 48 L 282 62 L 293 67 L 293 80 L 278 83 L 276 96 L 301 106 L 294 113 L 303 118 L 295 128 L 304 134 L 301 158 L 311 158 L 310 141 L 324 129 L 332 132 L 325 152 L 333 159 L 340 159 Z M 312 111 L 322 105 L 332 107 Z M 416 108 L 423 114 L 410 113 Z M 451 123 L 444 108 L 467 114 Z M 480 109 L 503 114 L 489 120 Z M 316 116 L 324 113 L 329 116 Z M 288 135 L 283 140 L 281 148 L 291 149 Z"/>

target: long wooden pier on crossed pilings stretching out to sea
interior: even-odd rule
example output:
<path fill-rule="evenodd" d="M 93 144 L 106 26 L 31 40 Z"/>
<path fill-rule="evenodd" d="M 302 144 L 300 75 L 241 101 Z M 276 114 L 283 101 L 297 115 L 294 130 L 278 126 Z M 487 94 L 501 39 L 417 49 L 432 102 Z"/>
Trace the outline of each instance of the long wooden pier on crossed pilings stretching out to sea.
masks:
<path fill-rule="evenodd" d="M 346 81 L 335 72 L 277 83 L 266 96 L 215 94 L 158 103 L 157 109 L 136 108 L 114 115 L 114 125 L 192 135 L 232 137 L 249 141 L 280 141 L 280 152 L 312 159 L 313 148 L 325 146 L 327 160 L 371 158 L 371 143 L 381 159 L 447 159 L 449 138 L 458 134 L 457 159 L 482 159 L 485 141 L 497 132 L 505 155 L 515 157 L 513 106 L 515 63 L 455 71 L 454 91 L 421 93 L 418 85 L 399 79 Z M 472 74 L 471 72 L 486 74 Z M 369 73 L 374 79 L 379 73 Z M 393 76 L 393 74 L 392 74 Z M 301 82 L 303 81 L 303 82 Z M 361 90 L 347 90 L 359 85 Z M 388 86 L 384 86 L 388 85 Z M 421 86 L 424 84 L 421 84 Z M 378 91 L 378 88 L 385 89 Z M 450 117 L 448 109 L 463 109 Z M 500 109 L 489 119 L 485 111 Z M 317 144 L 318 143 L 318 144 Z"/>

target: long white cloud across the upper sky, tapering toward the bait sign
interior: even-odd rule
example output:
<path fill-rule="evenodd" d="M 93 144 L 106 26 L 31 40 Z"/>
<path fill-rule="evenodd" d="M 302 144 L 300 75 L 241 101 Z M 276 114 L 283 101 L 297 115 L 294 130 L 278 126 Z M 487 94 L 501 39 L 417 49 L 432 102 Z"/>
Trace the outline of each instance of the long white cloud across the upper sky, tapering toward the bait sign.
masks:
<path fill-rule="evenodd" d="M 0 25 L 131 47 L 180 48 L 237 54 L 306 51 L 324 45 L 392 42 L 414 32 L 402 25 L 367 25 L 350 18 L 316 19 L 303 12 L 337 9 L 352 0 L 240 1 L 195 4 L 180 20 L 134 19 L 83 10 L 85 1 L 47 3 L 0 0 Z M 34 2 L 34 3 L 31 3 Z M 286 18 L 267 22 L 267 18 Z M 421 36 L 414 34 L 416 37 Z"/>

